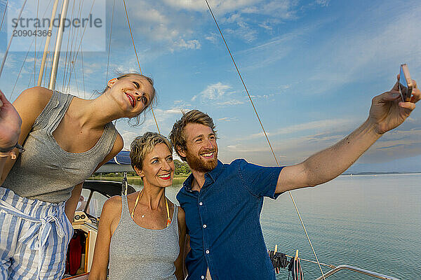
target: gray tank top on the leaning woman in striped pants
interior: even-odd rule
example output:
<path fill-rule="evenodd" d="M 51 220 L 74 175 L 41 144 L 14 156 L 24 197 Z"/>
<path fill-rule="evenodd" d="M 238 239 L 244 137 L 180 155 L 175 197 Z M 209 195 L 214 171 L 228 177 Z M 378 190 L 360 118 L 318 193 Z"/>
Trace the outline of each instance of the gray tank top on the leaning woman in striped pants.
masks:
<path fill-rule="evenodd" d="M 20 197 L 60 203 L 72 195 L 74 186 L 82 183 L 109 154 L 116 139 L 112 123 L 105 125 L 98 142 L 84 153 L 68 153 L 55 141 L 58 127 L 73 95 L 53 91 L 50 101 L 36 118 L 23 147 L 3 185 Z"/>

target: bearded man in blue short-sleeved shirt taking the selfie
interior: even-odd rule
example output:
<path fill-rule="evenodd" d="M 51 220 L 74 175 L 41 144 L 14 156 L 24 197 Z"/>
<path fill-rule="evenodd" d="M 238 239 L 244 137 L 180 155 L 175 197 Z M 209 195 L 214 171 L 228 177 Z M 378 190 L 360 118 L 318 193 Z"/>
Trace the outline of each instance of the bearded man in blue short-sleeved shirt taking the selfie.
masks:
<path fill-rule="evenodd" d="M 222 164 L 212 118 L 197 110 L 184 113 L 170 139 L 192 169 L 177 195 L 190 237 L 187 279 L 274 280 L 260 227 L 263 197 L 276 199 L 345 172 L 382 134 L 408 118 L 421 92 L 415 86 L 410 102 L 400 98 L 396 83 L 390 92 L 373 98 L 366 122 L 345 139 L 287 167 L 262 167 L 246 160 Z"/>

